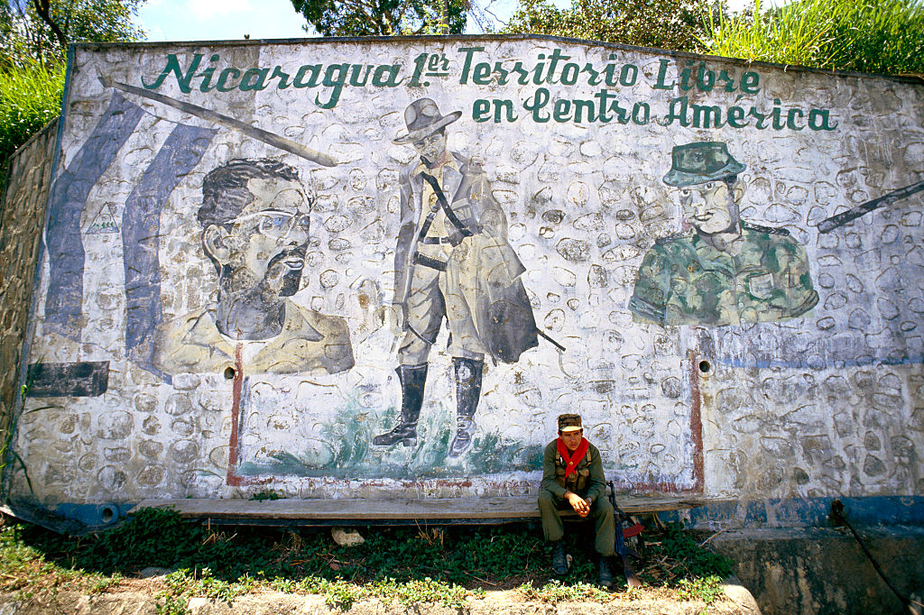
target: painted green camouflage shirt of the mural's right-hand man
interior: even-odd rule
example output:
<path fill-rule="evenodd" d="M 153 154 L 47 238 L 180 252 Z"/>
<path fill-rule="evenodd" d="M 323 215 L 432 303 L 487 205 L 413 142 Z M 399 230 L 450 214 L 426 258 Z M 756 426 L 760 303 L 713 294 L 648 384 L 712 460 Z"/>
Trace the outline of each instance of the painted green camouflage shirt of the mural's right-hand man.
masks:
<path fill-rule="evenodd" d="M 629 301 L 635 320 L 736 325 L 795 318 L 815 307 L 805 248 L 789 231 L 742 222 L 741 235 L 738 254 L 696 234 L 655 241 Z"/>

